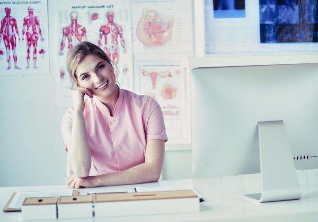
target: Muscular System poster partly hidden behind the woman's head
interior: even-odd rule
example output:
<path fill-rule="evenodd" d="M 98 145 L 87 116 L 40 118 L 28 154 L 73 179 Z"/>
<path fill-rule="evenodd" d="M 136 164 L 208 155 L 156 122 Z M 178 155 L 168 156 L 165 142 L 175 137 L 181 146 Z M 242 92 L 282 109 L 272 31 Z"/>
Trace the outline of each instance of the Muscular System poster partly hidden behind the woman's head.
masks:
<path fill-rule="evenodd" d="M 133 90 L 130 0 L 58 0 L 55 1 L 55 8 L 54 44 L 59 106 L 72 104 L 73 86 L 66 68 L 66 56 L 69 49 L 83 41 L 100 46 L 115 64 L 120 87 Z"/>

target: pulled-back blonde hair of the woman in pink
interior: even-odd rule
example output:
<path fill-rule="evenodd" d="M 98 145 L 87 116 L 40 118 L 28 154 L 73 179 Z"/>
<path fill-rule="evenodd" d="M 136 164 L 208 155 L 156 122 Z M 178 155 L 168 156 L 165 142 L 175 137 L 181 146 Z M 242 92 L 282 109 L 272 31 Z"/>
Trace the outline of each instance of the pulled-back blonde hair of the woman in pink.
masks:
<path fill-rule="evenodd" d="M 88 55 L 95 55 L 100 57 L 101 59 L 108 62 L 114 70 L 113 61 L 99 46 L 90 42 L 81 42 L 69 50 L 66 58 L 66 67 L 68 69 L 74 87 L 79 86 L 76 76 L 76 68 L 78 64 L 81 63 Z"/>

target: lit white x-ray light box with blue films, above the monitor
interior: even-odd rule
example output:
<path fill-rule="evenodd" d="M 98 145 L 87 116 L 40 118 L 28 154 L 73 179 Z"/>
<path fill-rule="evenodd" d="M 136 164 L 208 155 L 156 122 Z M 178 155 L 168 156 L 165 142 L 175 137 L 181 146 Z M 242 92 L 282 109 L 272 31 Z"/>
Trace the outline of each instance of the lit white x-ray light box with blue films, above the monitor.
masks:
<path fill-rule="evenodd" d="M 204 52 L 317 52 L 317 2 L 205 0 Z"/>

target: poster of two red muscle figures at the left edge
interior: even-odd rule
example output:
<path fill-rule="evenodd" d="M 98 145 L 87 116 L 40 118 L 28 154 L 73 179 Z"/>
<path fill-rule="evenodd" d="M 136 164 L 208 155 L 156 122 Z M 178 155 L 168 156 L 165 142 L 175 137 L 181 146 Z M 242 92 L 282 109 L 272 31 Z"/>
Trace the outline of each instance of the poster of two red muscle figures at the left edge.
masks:
<path fill-rule="evenodd" d="M 47 1 L 0 2 L 0 75 L 50 73 Z"/>

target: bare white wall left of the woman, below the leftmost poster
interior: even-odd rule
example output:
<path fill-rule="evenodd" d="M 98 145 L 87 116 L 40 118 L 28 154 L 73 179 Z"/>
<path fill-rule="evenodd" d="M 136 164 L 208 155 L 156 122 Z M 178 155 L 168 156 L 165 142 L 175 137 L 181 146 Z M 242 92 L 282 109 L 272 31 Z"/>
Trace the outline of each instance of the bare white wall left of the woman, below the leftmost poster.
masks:
<path fill-rule="evenodd" d="M 1 77 L 0 186 L 61 184 L 66 154 L 53 75 Z"/>

